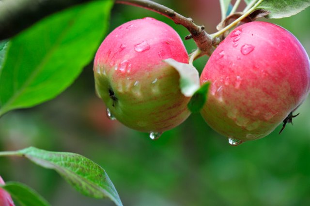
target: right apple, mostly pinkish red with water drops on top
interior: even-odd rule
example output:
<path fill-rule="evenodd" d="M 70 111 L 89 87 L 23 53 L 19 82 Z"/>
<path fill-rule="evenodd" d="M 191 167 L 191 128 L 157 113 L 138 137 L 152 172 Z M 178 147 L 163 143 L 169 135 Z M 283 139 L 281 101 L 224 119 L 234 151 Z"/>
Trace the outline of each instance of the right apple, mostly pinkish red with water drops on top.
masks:
<path fill-rule="evenodd" d="M 200 80 L 211 82 L 201 111 L 205 121 L 228 138 L 259 139 L 307 97 L 309 57 L 286 29 L 250 22 L 218 45 Z"/>

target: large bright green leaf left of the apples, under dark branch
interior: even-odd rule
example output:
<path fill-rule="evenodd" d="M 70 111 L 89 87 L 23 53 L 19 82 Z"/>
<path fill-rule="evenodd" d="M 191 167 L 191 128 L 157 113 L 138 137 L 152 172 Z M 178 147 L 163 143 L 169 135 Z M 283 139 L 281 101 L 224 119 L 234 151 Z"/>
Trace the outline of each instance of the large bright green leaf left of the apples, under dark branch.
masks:
<path fill-rule="evenodd" d="M 10 41 L 0 74 L 0 115 L 50 100 L 73 83 L 103 39 L 112 2 L 64 10 Z"/>

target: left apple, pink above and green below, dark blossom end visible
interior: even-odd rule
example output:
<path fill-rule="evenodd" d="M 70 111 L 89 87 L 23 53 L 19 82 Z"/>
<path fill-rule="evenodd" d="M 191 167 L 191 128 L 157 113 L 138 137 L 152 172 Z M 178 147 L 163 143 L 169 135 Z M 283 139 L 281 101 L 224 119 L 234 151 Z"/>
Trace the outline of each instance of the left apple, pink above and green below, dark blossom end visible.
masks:
<path fill-rule="evenodd" d="M 178 72 L 163 62 L 188 63 L 179 35 L 167 24 L 146 17 L 114 29 L 94 59 L 97 95 L 111 114 L 129 128 L 164 132 L 189 115 Z"/>

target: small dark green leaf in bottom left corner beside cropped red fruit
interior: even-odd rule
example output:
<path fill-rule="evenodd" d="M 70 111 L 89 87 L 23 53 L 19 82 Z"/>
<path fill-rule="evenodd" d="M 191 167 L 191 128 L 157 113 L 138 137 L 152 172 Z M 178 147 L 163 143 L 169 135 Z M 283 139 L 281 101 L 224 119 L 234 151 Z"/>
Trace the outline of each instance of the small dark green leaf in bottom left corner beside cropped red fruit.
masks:
<path fill-rule="evenodd" d="M 9 192 L 21 206 L 50 206 L 36 191 L 19 182 L 7 182 L 0 188 Z"/>

